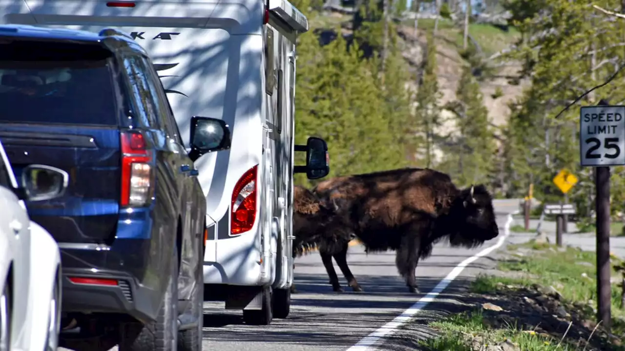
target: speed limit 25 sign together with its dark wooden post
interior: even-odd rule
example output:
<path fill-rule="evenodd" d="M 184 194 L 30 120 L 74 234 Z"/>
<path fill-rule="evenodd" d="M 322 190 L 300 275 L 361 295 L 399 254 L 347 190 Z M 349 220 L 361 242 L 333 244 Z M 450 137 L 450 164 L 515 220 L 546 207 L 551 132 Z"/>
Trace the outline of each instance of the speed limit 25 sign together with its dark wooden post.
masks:
<path fill-rule="evenodd" d="M 625 106 L 583 106 L 579 116 L 579 159 L 595 167 L 597 227 L 597 319 L 611 327 L 610 168 L 625 165 Z"/>

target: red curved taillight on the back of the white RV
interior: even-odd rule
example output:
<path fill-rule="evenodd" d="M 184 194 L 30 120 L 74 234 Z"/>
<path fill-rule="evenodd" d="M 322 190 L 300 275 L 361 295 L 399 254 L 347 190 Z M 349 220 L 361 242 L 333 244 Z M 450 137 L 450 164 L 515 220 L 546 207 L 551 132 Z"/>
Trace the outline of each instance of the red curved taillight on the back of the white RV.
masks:
<path fill-rule="evenodd" d="M 230 204 L 230 235 L 242 234 L 254 226 L 257 169 L 258 165 L 248 169 L 234 185 Z"/>

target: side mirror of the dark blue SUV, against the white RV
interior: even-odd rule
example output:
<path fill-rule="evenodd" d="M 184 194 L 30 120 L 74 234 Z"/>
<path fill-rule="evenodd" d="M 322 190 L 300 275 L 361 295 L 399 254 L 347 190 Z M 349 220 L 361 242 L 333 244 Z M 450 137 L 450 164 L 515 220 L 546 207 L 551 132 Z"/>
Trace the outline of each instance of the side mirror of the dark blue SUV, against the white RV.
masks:
<path fill-rule="evenodd" d="M 230 148 L 230 129 L 226 122 L 211 117 L 191 117 L 191 151 L 189 157 L 196 161 L 209 152 Z"/>

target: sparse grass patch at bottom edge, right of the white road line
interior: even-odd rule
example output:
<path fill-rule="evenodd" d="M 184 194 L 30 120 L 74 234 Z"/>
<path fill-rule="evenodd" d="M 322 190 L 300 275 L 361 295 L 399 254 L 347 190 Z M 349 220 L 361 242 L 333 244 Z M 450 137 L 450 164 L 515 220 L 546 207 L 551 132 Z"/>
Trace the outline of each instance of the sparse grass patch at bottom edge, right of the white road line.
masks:
<path fill-rule="evenodd" d="M 432 351 L 471 351 L 471 339 L 478 336 L 479 344 L 484 346 L 499 344 L 507 339 L 524 351 L 554 350 L 554 345 L 558 343 L 558 340 L 537 335 L 532 330 L 519 329 L 512 324 L 507 325 L 506 329 L 494 329 L 484 322 L 481 309 L 454 314 L 441 322 L 431 323 L 430 327 L 442 332 L 440 337 L 421 342 L 422 347 Z M 557 349 L 573 350 L 566 344 Z"/>

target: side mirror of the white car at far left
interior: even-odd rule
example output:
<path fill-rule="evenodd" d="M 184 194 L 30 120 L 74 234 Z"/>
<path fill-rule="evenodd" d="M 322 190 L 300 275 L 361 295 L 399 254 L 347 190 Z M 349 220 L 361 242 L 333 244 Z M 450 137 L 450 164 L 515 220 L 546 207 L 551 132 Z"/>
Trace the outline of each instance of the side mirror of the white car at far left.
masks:
<path fill-rule="evenodd" d="M 22 187 L 26 200 L 42 201 L 60 197 L 68 188 L 69 175 L 52 166 L 31 164 L 22 170 Z"/>

